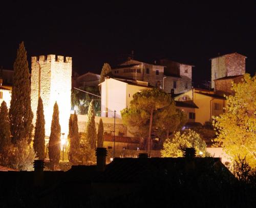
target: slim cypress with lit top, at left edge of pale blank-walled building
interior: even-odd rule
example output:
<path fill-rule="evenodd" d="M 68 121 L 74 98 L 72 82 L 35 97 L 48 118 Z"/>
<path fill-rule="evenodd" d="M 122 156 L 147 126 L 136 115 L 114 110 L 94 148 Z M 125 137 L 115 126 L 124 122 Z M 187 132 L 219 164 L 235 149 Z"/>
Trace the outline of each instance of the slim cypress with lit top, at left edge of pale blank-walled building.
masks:
<path fill-rule="evenodd" d="M 95 113 L 93 108 L 93 101 L 90 103 L 88 110 L 88 121 L 86 126 L 86 140 L 89 142 L 91 149 L 96 148 L 96 127 L 95 127 Z"/>

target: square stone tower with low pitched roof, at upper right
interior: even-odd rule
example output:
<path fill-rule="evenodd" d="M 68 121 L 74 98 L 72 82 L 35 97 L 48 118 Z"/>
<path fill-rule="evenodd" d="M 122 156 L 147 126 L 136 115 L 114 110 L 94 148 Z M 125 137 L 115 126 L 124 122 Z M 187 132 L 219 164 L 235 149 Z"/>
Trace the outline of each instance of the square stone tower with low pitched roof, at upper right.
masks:
<path fill-rule="evenodd" d="M 244 75 L 246 58 L 238 53 L 211 58 L 211 88 L 215 88 L 215 79 Z"/>

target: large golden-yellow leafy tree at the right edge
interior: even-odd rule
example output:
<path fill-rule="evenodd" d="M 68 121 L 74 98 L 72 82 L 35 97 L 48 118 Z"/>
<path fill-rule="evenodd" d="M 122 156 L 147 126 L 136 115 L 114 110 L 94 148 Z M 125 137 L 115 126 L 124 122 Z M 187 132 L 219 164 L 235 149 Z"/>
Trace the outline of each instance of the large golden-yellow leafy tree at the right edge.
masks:
<path fill-rule="evenodd" d="M 214 117 L 218 130 L 217 145 L 235 158 L 237 154 L 256 167 L 256 76 L 244 75 L 241 83 L 232 84 L 234 95 L 227 96 L 225 113 Z"/>

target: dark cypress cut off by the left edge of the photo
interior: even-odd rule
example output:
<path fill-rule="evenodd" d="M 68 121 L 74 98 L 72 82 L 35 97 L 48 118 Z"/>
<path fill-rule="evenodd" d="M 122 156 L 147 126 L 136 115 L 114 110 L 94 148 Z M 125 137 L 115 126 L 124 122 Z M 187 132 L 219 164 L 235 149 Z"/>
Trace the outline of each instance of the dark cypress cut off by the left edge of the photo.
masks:
<path fill-rule="evenodd" d="M 6 102 L 0 107 L 0 165 L 7 166 L 12 150 L 10 120 Z"/>

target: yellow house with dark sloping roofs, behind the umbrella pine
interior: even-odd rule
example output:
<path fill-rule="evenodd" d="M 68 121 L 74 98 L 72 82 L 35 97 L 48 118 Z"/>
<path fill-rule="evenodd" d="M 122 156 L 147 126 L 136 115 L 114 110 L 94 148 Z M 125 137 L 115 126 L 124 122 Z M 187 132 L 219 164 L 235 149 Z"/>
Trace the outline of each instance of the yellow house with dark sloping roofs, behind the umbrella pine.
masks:
<path fill-rule="evenodd" d="M 190 122 L 204 124 L 211 122 L 213 115 L 220 115 L 224 112 L 226 99 L 223 96 L 216 95 L 214 91 L 193 88 L 175 97 L 175 101 L 195 104 L 196 107 L 178 107 L 188 114 Z M 190 110 L 190 111 L 189 111 Z"/>

